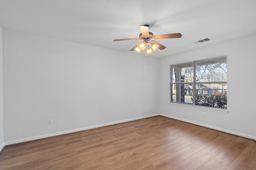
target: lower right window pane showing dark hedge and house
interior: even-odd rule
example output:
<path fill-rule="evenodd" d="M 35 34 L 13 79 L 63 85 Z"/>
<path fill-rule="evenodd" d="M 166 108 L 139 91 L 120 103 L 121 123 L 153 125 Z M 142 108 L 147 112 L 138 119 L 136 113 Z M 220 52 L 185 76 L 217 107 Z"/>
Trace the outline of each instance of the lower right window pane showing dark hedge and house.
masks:
<path fill-rule="evenodd" d="M 196 84 L 196 105 L 227 108 L 227 85 Z"/>

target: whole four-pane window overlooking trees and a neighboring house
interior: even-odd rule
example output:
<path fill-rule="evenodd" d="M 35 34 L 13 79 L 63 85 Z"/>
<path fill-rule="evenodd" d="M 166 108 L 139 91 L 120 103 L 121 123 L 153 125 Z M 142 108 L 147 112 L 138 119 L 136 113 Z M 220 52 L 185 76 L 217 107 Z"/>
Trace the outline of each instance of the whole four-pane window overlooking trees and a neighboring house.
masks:
<path fill-rule="evenodd" d="M 227 109 L 227 57 L 171 65 L 170 102 Z"/>

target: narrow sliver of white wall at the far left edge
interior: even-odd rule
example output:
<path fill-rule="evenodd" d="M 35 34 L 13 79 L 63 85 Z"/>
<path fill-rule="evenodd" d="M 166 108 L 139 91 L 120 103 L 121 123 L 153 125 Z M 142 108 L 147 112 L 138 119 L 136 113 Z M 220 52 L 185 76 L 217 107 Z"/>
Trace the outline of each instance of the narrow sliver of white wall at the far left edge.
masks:
<path fill-rule="evenodd" d="M 3 110 L 3 29 L 0 26 L 0 151 L 4 148 L 4 110 Z"/>

